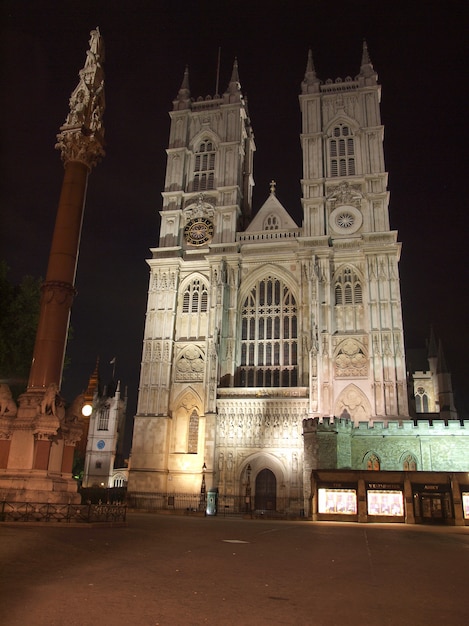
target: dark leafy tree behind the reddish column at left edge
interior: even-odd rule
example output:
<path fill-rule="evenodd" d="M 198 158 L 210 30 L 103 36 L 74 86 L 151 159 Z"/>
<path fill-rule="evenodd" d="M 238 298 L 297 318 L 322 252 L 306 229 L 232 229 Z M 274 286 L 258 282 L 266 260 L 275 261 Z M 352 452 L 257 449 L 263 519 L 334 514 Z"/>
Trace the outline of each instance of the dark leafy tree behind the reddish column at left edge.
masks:
<path fill-rule="evenodd" d="M 31 367 L 42 279 L 24 276 L 13 285 L 8 271 L 0 261 L 0 380 L 17 396 L 26 387 Z"/>

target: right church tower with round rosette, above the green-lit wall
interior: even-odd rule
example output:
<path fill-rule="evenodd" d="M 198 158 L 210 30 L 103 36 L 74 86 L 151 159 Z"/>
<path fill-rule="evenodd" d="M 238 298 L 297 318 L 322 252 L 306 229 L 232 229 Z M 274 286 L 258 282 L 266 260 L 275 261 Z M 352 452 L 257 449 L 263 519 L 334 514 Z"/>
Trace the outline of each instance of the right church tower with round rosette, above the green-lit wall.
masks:
<path fill-rule="evenodd" d="M 311 409 L 355 423 L 408 416 L 401 248 L 389 226 L 377 80 L 366 43 L 359 74 L 325 84 L 310 52 L 300 95 Z"/>

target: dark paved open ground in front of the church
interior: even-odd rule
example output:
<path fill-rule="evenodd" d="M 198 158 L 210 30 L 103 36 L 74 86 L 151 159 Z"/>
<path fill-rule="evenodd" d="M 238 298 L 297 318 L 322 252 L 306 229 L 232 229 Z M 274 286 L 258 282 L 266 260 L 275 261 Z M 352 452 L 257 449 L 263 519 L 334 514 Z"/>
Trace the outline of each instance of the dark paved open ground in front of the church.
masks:
<path fill-rule="evenodd" d="M 0 523 L 2 626 L 469 624 L 469 527 Z"/>

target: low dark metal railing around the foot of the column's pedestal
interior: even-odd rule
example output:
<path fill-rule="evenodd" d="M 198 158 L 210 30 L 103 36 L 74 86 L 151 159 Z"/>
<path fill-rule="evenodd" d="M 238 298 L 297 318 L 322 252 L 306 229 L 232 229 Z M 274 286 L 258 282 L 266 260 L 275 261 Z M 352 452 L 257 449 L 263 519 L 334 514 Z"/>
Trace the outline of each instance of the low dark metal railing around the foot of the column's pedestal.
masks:
<path fill-rule="evenodd" d="M 0 522 L 50 522 L 60 524 L 125 523 L 122 504 L 53 504 L 0 502 Z"/>

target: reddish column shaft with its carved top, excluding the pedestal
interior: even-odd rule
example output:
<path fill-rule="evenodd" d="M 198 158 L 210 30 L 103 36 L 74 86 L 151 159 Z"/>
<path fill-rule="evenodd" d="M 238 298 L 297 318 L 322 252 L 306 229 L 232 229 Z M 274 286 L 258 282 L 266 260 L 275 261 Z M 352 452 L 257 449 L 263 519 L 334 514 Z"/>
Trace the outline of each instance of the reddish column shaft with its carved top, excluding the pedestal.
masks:
<path fill-rule="evenodd" d="M 88 174 L 104 156 L 104 46 L 91 32 L 90 50 L 70 98 L 70 113 L 57 135 L 65 172 L 42 286 L 39 326 L 28 389 L 60 388 L 80 247 Z"/>

